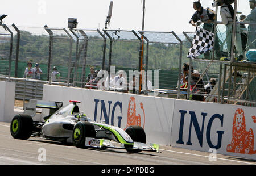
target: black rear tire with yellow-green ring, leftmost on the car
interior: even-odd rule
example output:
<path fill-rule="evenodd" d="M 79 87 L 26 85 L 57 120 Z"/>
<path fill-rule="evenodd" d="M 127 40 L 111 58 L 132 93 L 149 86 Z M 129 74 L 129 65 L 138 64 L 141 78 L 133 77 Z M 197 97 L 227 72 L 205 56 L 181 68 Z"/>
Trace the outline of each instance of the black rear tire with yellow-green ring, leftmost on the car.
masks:
<path fill-rule="evenodd" d="M 27 140 L 33 129 L 33 119 L 27 114 L 16 114 L 11 120 L 10 131 L 14 139 Z"/>

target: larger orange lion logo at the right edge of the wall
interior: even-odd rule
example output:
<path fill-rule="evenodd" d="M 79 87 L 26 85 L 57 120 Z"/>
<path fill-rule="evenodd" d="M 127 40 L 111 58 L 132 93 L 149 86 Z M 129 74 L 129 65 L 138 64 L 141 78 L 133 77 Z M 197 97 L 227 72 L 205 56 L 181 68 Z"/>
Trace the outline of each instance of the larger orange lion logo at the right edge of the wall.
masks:
<path fill-rule="evenodd" d="M 226 147 L 227 152 L 256 154 L 254 149 L 254 134 L 253 129 L 246 131 L 245 112 L 238 108 L 234 114 L 232 141 Z"/>

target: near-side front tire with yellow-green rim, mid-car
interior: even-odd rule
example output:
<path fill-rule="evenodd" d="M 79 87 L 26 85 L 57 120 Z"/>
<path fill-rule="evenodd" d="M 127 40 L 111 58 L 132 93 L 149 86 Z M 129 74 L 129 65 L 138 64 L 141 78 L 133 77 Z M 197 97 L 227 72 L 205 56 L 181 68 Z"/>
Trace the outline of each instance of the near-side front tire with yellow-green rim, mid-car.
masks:
<path fill-rule="evenodd" d="M 96 137 L 96 131 L 92 123 L 79 121 L 73 128 L 72 141 L 77 148 L 86 148 L 85 137 Z"/>

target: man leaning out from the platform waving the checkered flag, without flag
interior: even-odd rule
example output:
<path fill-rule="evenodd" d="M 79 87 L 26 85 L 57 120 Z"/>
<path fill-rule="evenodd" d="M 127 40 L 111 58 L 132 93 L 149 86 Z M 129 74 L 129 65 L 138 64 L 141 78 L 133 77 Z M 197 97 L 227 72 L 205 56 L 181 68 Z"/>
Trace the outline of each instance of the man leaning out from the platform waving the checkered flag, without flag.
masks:
<path fill-rule="evenodd" d="M 215 12 L 212 9 L 202 7 L 201 3 L 198 1 L 193 2 L 193 9 L 195 9 L 196 12 L 193 14 L 189 23 L 196 26 L 196 23 L 201 20 L 201 22 L 204 23 L 204 30 L 214 33 L 214 24 L 210 22 L 214 22 L 216 18 Z M 221 58 L 220 44 L 217 33 L 214 41 L 214 51 L 216 52 L 216 56 Z M 206 52 L 204 57 L 205 59 L 210 59 L 210 52 Z"/>

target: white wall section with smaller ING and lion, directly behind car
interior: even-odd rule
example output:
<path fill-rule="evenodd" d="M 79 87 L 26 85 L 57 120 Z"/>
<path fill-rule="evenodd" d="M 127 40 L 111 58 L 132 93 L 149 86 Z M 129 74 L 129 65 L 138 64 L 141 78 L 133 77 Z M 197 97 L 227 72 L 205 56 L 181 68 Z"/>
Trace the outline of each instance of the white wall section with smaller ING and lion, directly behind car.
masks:
<path fill-rule="evenodd" d="M 130 125 L 144 128 L 147 142 L 171 144 L 172 110 L 175 99 L 44 85 L 43 100 L 63 102 L 79 100 L 80 112 L 93 121 L 125 129 Z M 43 116 L 48 111 L 43 111 Z"/>

